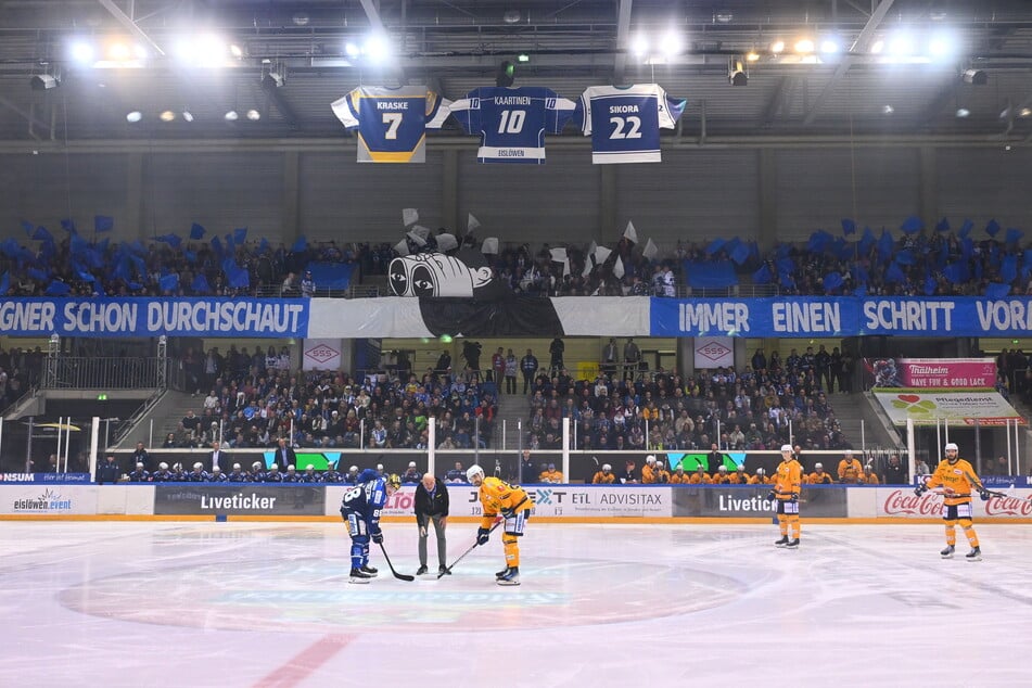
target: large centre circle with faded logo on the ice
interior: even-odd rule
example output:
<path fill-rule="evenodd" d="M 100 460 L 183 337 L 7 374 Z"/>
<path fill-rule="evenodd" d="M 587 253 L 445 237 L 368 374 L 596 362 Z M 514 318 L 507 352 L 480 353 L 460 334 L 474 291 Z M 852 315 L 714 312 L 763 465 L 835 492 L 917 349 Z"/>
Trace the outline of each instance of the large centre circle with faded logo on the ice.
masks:
<path fill-rule="evenodd" d="M 395 561 L 395 566 L 398 562 Z M 64 590 L 75 611 L 139 623 L 233 630 L 341 633 L 488 630 L 598 625 L 688 614 L 732 602 L 746 586 L 685 566 L 540 559 L 519 588 L 495 585 L 500 557 L 463 561 L 442 579 L 396 581 L 382 561 L 370 585 L 348 585 L 345 558 L 162 568 Z M 174 607 L 154 604 L 155 590 Z"/>

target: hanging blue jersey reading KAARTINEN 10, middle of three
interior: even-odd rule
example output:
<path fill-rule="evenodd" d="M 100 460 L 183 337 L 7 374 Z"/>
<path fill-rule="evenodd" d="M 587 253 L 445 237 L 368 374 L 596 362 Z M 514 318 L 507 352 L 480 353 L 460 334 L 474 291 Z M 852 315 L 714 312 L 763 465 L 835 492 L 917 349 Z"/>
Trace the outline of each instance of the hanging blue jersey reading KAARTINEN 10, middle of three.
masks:
<path fill-rule="evenodd" d="M 559 133 L 576 109 L 538 87 L 473 89 L 449 110 L 462 128 L 481 137 L 482 163 L 545 164 L 545 135 Z"/>

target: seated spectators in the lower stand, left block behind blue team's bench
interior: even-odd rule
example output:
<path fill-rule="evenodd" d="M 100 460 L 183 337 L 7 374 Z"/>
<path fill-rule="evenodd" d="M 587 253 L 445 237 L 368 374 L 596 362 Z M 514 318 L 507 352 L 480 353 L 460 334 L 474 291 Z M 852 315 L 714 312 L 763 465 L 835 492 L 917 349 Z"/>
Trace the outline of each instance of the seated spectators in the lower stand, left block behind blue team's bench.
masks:
<path fill-rule="evenodd" d="M 400 369 L 359 380 L 292 371 L 289 353 L 272 346 L 187 349 L 181 360 L 187 390 L 201 402 L 165 438 L 165 448 L 218 439 L 229 448 L 273 447 L 282 437 L 293 447 L 424 449 L 431 419 L 438 448 L 467 449 L 477 441 L 487 448 L 494 431 L 494 385 L 469 369 L 421 377 Z"/>

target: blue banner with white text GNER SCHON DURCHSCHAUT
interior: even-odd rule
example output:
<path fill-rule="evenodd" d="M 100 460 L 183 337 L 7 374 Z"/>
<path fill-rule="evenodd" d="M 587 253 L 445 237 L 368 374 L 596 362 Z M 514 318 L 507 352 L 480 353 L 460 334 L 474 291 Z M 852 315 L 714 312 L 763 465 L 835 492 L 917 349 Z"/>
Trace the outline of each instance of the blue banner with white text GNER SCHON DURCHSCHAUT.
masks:
<path fill-rule="evenodd" d="M 305 298 L 8 298 L 0 333 L 39 336 L 306 336 Z"/>

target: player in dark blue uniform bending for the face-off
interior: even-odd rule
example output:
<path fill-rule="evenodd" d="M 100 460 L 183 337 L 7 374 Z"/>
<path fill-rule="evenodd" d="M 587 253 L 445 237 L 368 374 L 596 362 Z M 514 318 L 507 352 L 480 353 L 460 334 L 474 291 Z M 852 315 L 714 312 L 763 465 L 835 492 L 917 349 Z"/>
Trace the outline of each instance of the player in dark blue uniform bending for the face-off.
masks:
<path fill-rule="evenodd" d="M 352 572 L 349 583 L 369 583 L 377 570 L 369 565 L 369 540 L 383 543 L 380 530 L 380 510 L 402 485 L 396 474 L 381 477 L 367 468 L 358 474 L 358 484 L 344 493 L 341 518 L 347 523 L 352 537 Z"/>

